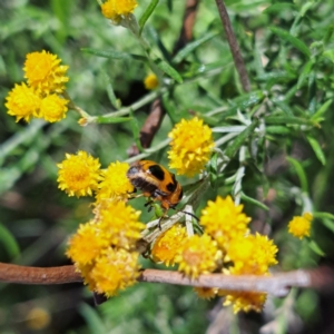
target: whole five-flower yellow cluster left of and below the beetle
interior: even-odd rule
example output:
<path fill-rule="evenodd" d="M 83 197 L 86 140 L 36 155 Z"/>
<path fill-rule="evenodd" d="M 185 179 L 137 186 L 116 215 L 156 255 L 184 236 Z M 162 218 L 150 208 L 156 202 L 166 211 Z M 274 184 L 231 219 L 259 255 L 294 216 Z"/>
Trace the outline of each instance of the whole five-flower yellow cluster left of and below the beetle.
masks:
<path fill-rule="evenodd" d="M 59 188 L 69 196 L 96 195 L 95 217 L 79 226 L 67 255 L 91 291 L 112 296 L 139 275 L 136 249 L 145 225 L 140 212 L 126 205 L 134 191 L 126 176 L 129 165 L 116 161 L 101 170 L 98 159 L 80 150 L 67 154 L 58 168 Z"/>

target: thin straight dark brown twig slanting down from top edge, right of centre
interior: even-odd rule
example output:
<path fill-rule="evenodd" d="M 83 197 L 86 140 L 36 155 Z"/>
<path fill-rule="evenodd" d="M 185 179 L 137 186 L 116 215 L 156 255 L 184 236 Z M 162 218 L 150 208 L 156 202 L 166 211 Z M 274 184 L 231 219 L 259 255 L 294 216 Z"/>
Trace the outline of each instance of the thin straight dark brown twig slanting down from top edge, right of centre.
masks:
<path fill-rule="evenodd" d="M 229 45 L 229 49 L 234 59 L 234 63 L 240 77 L 240 82 L 245 91 L 250 91 L 249 78 L 246 71 L 245 62 L 239 49 L 239 45 L 236 40 L 236 37 L 233 32 L 230 20 L 223 0 L 216 0 L 216 4 L 219 11 L 222 23 L 226 33 L 226 38 Z"/>

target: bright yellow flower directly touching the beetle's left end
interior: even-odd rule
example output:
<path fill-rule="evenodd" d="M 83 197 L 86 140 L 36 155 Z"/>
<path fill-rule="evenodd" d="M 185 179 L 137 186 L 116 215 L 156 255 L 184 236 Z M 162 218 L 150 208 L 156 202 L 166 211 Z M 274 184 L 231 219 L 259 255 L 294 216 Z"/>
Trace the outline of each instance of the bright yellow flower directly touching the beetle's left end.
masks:
<path fill-rule="evenodd" d="M 129 193 L 134 193 L 135 188 L 127 178 L 129 168 L 128 164 L 116 161 L 101 171 L 101 183 L 96 196 L 98 203 L 109 198 L 125 200 Z"/>

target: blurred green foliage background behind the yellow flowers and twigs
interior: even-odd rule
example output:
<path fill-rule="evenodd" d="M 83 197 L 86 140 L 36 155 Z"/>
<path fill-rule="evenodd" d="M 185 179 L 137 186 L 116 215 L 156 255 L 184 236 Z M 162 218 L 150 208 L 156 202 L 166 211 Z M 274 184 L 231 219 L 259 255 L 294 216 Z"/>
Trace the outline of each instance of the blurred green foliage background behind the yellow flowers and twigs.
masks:
<path fill-rule="evenodd" d="M 139 1 L 137 18 L 148 3 Z M 226 4 L 252 92 L 242 90 L 215 1 L 200 1 L 194 27 L 198 46 L 184 50 L 184 60 L 174 63 L 184 84 L 175 85 L 164 97 L 168 116 L 153 146 L 166 139 L 174 122 L 189 118 L 188 110 L 199 112 L 215 127 L 240 125 L 237 111 L 257 117 L 265 125 L 265 135 L 257 138 L 257 151 L 245 138 L 253 155 L 246 160 L 243 191 L 269 210 L 246 202 L 246 212 L 254 217 L 252 228 L 271 232 L 279 248 L 277 271 L 331 263 L 334 223 L 324 213 L 333 213 L 334 205 L 334 3 L 230 0 Z M 159 1 L 145 27 L 155 52 L 166 56 L 161 43 L 168 50 L 166 61 L 171 59 L 184 6 L 185 1 Z M 40 120 L 16 124 L 7 115 L 4 98 L 23 80 L 26 55 L 42 49 L 69 65 L 67 91 L 95 116 L 114 110 L 108 85 L 122 106 L 146 96 L 143 79 L 149 68 L 129 57 L 110 56 L 115 51 L 143 55 L 143 50 L 129 31 L 102 18 L 95 1 L 4 0 L 0 22 L 0 261 L 32 266 L 69 264 L 63 255 L 66 240 L 79 223 L 88 220 L 89 202 L 68 198 L 57 189 L 56 164 L 65 153 L 78 149 L 99 157 L 104 167 L 124 160 L 134 141 L 131 127 L 129 122 L 80 127 L 75 112 L 55 125 Z M 107 51 L 109 57 L 96 57 L 84 48 Z M 139 128 L 148 111 L 149 104 L 136 110 Z M 166 150 L 156 151 L 150 159 L 167 165 Z M 235 156 L 224 179 L 237 167 Z M 216 177 L 216 189 L 205 195 L 200 207 L 217 194 L 230 191 L 232 185 Z M 286 230 L 292 216 L 302 213 L 301 194 L 317 213 L 311 240 L 302 242 Z M 143 208 L 143 203 L 136 205 Z M 263 333 L 330 333 L 326 331 L 334 325 L 331 298 L 312 291 L 293 291 L 284 301 L 269 298 L 262 315 L 237 317 L 228 310 L 220 312 L 220 302 L 197 299 L 191 288 L 178 286 L 138 284 L 98 308 L 80 284 L 1 284 L 0 294 L 0 332 L 8 334 L 33 332 L 26 317 L 35 306 L 51 315 L 50 325 L 40 333 L 205 333 L 207 328 L 207 333 L 257 333 L 267 323 L 272 332 Z"/>

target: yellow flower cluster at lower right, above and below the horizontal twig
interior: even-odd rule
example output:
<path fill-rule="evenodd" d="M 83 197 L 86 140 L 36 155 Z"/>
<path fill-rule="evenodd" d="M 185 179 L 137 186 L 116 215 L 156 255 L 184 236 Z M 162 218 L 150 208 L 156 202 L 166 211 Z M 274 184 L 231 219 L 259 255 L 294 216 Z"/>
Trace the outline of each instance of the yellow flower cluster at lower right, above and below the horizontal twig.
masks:
<path fill-rule="evenodd" d="M 277 264 L 277 247 L 267 236 L 249 234 L 250 218 L 243 205 L 232 197 L 217 197 L 203 209 L 202 236 L 187 236 L 185 227 L 177 224 L 165 232 L 151 248 L 153 259 L 166 265 L 178 264 L 178 271 L 191 279 L 202 274 L 224 272 L 232 275 L 268 275 L 269 266 Z M 228 266 L 227 266 L 228 264 Z M 225 296 L 224 305 L 233 304 L 234 312 L 259 312 L 266 294 L 253 292 L 218 291 L 196 287 L 199 297 Z"/>

